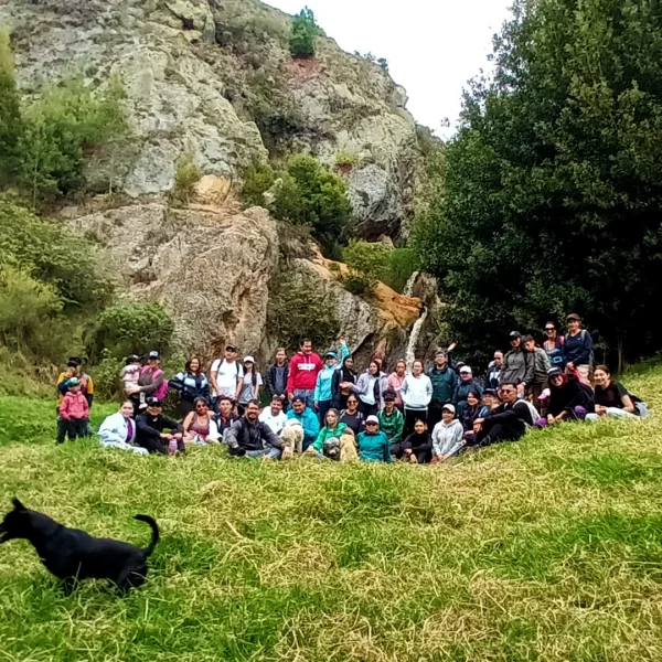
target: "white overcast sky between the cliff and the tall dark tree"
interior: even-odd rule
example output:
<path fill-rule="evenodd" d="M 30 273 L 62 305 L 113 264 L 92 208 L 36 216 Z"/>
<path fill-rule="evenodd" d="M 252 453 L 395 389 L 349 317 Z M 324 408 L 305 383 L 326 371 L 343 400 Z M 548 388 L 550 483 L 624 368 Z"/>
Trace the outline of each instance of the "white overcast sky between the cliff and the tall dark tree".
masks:
<path fill-rule="evenodd" d="M 461 94 L 481 68 L 490 71 L 492 35 L 511 0 L 264 0 L 290 14 L 305 4 L 324 32 L 353 53 L 388 61 L 393 79 L 409 95 L 420 124 L 449 136 Z M 448 117 L 450 129 L 440 129 Z"/>

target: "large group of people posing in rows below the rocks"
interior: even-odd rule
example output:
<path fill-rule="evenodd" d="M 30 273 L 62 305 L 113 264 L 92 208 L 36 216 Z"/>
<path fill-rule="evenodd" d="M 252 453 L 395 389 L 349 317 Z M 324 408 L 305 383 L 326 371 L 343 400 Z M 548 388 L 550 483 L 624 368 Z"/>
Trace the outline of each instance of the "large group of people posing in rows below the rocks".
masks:
<path fill-rule="evenodd" d="M 577 314 L 562 335 L 545 325 L 532 335 L 510 334 L 511 349 L 494 353 L 484 378 L 452 360 L 455 345 L 423 361 L 396 361 L 384 370 L 375 353 L 360 374 L 344 339 L 340 351 L 318 355 L 309 339 L 288 360 L 285 349 L 265 372 L 252 355 L 238 360 L 228 344 L 209 377 L 197 357 L 169 381 L 160 355 L 129 356 L 121 371 L 126 401 L 99 428 L 104 446 L 137 453 L 181 453 L 186 444 L 225 445 L 235 457 L 286 459 L 297 452 L 344 461 L 438 463 L 500 441 L 516 441 L 528 428 L 604 416 L 637 418 L 648 409 L 594 365 L 592 340 Z M 592 382 L 595 382 L 595 387 Z M 179 394 L 181 419 L 163 414 L 163 398 Z M 57 440 L 89 434 L 92 380 L 78 359 L 58 380 Z M 260 398 L 266 406 L 260 406 Z"/>

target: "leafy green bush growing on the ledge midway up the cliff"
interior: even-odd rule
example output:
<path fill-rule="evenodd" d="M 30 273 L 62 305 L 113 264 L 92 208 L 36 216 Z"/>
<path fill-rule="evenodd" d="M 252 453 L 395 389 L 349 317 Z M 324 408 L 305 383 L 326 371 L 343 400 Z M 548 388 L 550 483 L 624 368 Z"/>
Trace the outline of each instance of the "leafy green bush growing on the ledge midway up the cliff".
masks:
<path fill-rule="evenodd" d="M 271 205 L 274 215 L 295 225 L 310 226 L 322 247 L 332 249 L 352 213 L 344 181 L 305 154 L 291 157 L 279 177 Z"/>

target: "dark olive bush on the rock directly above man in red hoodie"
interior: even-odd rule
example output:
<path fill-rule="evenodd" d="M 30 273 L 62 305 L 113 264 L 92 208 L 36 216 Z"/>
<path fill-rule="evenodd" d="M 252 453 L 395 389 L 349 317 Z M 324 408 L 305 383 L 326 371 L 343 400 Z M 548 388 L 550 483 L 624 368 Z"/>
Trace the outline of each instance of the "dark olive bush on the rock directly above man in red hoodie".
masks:
<path fill-rule="evenodd" d="M 335 302 L 310 276 L 280 274 L 269 287 L 269 329 L 290 351 L 299 349 L 302 338 L 329 348 L 340 334 Z"/>

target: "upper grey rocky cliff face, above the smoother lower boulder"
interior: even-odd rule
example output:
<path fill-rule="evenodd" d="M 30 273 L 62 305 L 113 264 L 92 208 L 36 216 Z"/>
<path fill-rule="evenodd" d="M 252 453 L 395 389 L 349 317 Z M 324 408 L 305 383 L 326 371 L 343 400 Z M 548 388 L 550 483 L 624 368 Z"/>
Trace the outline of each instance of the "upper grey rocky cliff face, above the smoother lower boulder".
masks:
<path fill-rule="evenodd" d="M 405 90 L 325 36 L 316 58 L 292 60 L 290 20 L 257 0 L 0 2 L 24 89 L 71 73 L 124 81 L 134 136 L 92 168 L 98 191 L 168 191 L 183 153 L 238 181 L 268 150 L 311 152 L 340 160 L 360 234 L 402 237 L 425 179 Z"/>

